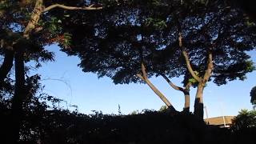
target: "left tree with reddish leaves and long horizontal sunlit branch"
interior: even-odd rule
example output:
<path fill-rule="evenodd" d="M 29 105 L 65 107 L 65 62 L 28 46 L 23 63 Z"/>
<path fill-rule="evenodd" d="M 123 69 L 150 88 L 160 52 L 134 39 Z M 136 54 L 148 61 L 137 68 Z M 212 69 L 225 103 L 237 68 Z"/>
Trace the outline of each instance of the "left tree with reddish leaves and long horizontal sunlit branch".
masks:
<path fill-rule="evenodd" d="M 10 72 L 12 63 L 15 66 L 14 96 L 12 98 L 12 125 L 10 140 L 19 138 L 22 122 L 22 105 L 27 98 L 25 63 L 52 60 L 52 54 L 43 50 L 43 46 L 54 42 L 66 46 L 66 35 L 59 28 L 60 24 L 50 16 L 49 10 L 100 10 L 102 6 L 87 6 L 89 1 L 1 1 L 1 54 L 5 55 L 0 69 L 1 90 L 2 83 Z M 66 6 L 65 4 L 73 6 Z M 58 25 L 57 25 L 58 24 Z M 41 57 L 41 58 L 40 58 Z M 39 66 L 39 63 L 38 63 Z"/>

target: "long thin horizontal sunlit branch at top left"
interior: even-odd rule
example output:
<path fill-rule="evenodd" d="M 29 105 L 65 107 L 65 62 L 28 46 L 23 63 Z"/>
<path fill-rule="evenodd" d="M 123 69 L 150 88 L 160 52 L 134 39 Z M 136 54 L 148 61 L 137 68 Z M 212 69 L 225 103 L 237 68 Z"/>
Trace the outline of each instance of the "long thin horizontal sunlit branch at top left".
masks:
<path fill-rule="evenodd" d="M 77 6 L 65 6 L 65 5 L 60 5 L 60 4 L 54 4 L 51 6 L 46 7 L 43 12 L 52 10 L 56 7 L 65 9 L 65 10 L 102 10 L 102 6 L 100 7 L 93 7 L 94 5 L 90 5 L 90 6 L 85 6 L 85 7 L 77 7 Z"/>

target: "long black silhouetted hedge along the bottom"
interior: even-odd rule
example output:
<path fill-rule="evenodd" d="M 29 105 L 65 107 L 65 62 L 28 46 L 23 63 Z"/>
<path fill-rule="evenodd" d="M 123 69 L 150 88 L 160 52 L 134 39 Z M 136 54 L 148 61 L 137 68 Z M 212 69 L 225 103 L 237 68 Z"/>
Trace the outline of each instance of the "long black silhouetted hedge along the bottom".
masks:
<path fill-rule="evenodd" d="M 94 111 L 47 110 L 38 97 L 26 105 L 19 143 L 231 143 L 254 142 L 255 129 L 230 130 L 207 126 L 194 115 L 144 110 L 135 115 L 109 115 Z M 1 102 L 1 143 L 6 142 L 10 108 Z M 11 124 L 11 123 L 10 123 Z M 243 139 L 246 138 L 246 139 Z"/>

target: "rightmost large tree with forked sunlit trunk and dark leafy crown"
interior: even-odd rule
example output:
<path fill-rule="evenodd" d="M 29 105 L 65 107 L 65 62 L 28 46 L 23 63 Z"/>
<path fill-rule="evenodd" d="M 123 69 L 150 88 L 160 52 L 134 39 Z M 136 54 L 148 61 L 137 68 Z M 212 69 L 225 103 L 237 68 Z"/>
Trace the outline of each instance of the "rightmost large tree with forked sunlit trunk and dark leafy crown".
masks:
<path fill-rule="evenodd" d="M 208 2 L 207 6 L 207 10 L 193 17 L 181 13 L 183 20 L 178 21 L 179 46 L 186 59 L 187 70 L 198 82 L 194 114 L 199 118 L 203 118 L 203 88 L 210 77 L 222 85 L 227 80 L 243 80 L 246 73 L 254 70 L 253 62 L 246 54 L 247 50 L 255 48 L 254 24 L 248 25 L 248 18 L 241 10 L 222 2 Z"/>

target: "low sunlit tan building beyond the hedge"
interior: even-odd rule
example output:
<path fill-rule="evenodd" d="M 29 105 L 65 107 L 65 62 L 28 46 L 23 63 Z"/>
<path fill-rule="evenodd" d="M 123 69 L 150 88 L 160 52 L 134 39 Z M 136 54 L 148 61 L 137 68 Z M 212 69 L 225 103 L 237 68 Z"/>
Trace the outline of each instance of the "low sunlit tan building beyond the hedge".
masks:
<path fill-rule="evenodd" d="M 218 126 L 220 128 L 229 128 L 232 125 L 234 116 L 221 116 L 214 118 L 206 118 L 204 121 L 207 125 Z"/>

